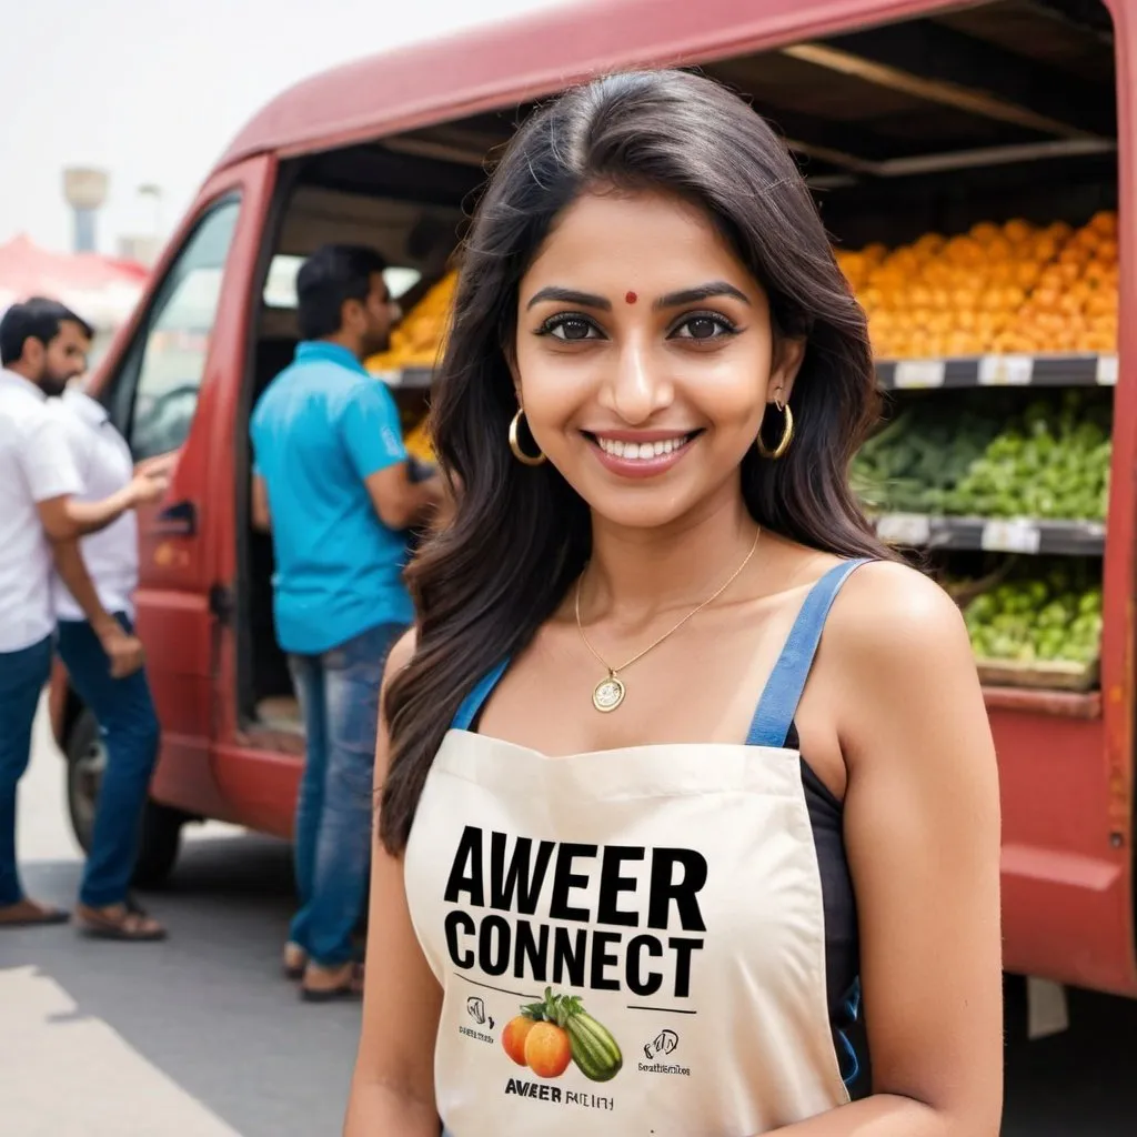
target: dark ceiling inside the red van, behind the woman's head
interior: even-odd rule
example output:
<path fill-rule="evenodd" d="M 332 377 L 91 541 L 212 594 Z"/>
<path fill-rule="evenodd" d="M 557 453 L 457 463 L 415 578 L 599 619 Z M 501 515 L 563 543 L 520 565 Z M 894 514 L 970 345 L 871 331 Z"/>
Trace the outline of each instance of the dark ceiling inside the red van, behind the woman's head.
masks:
<path fill-rule="evenodd" d="M 785 135 L 845 247 L 1117 206 L 1113 36 L 1096 0 L 1003 0 L 700 69 Z M 468 207 L 531 109 L 319 155 L 305 181 Z"/>

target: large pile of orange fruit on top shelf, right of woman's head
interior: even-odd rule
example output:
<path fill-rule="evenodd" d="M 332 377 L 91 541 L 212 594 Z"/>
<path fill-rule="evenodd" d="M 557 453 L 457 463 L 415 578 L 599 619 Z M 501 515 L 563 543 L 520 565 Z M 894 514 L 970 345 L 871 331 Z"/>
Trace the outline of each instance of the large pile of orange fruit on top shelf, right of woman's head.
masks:
<path fill-rule="evenodd" d="M 873 352 L 922 359 L 1117 350 L 1117 214 L 1082 229 L 982 222 L 889 251 L 838 251 Z"/>

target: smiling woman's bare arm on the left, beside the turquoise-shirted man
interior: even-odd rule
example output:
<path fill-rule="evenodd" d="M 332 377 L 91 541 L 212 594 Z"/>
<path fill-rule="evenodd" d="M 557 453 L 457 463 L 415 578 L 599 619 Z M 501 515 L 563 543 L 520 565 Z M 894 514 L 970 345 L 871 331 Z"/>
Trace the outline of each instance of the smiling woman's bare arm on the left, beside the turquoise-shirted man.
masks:
<path fill-rule="evenodd" d="M 387 681 L 414 650 L 408 633 L 391 650 Z M 375 787 L 387 777 L 385 724 L 380 723 Z M 376 814 L 377 820 L 377 814 Z M 402 861 L 375 839 L 367 929 L 363 1030 L 343 1137 L 438 1137 L 434 1039 L 442 991 L 410 924 Z"/>

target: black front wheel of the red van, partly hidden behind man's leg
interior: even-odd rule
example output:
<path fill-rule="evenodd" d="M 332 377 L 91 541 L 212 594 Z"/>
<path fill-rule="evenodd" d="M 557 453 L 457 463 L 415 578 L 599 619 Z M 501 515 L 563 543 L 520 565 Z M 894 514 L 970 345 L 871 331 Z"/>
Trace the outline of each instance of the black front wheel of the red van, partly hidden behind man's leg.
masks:
<path fill-rule="evenodd" d="M 107 748 L 94 715 L 84 708 L 67 733 L 67 812 L 75 840 L 84 853 L 91 852 L 94 810 L 107 767 Z M 157 802 L 148 802 L 142 815 L 139 858 L 133 883 L 157 888 L 173 871 L 182 840 L 185 814 Z"/>

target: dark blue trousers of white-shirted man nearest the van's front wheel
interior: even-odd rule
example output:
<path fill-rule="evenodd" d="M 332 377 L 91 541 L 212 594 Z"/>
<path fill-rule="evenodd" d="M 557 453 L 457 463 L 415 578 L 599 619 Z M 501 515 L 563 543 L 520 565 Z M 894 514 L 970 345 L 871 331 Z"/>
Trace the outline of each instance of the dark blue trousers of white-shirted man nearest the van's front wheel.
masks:
<path fill-rule="evenodd" d="M 116 613 L 115 619 L 133 634 L 126 616 Z M 142 813 L 158 761 L 158 715 L 146 672 L 113 679 L 107 653 L 85 621 L 59 622 L 59 655 L 107 744 L 91 852 L 78 894 L 81 903 L 102 908 L 126 899 L 134 874 Z"/>

